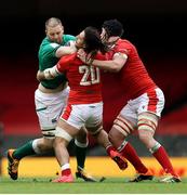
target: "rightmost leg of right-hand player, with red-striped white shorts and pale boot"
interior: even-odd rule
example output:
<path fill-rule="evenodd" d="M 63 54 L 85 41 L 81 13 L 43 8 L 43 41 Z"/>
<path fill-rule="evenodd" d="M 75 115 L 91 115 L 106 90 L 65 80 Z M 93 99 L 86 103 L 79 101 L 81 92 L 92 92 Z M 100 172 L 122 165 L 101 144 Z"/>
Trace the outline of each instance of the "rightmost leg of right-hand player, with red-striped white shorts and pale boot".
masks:
<path fill-rule="evenodd" d="M 158 126 L 160 114 L 164 106 L 163 92 L 160 89 L 151 90 L 139 96 L 137 109 L 137 130 L 141 141 L 156 157 L 164 171 L 169 174 L 163 182 L 179 182 L 164 147 L 155 140 L 153 134 Z"/>

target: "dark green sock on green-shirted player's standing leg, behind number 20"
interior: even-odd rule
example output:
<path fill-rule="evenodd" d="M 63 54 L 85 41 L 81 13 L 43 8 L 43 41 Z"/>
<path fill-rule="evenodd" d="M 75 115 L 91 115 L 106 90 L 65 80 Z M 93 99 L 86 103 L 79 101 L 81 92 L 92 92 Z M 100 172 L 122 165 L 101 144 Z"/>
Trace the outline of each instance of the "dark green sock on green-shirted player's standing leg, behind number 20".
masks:
<path fill-rule="evenodd" d="M 79 147 L 76 145 L 76 158 L 77 158 L 77 167 L 84 168 L 86 156 L 86 147 Z"/>

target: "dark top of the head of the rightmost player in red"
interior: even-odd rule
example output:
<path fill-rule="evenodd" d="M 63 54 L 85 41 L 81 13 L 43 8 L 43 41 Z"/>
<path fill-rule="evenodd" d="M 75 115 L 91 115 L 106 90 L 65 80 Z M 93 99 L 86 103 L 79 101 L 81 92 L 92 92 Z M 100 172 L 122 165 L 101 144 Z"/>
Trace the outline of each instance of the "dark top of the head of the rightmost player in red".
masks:
<path fill-rule="evenodd" d="M 108 37 L 111 37 L 111 36 L 121 37 L 124 31 L 123 25 L 118 20 L 105 21 L 102 27 L 105 28 Z"/>

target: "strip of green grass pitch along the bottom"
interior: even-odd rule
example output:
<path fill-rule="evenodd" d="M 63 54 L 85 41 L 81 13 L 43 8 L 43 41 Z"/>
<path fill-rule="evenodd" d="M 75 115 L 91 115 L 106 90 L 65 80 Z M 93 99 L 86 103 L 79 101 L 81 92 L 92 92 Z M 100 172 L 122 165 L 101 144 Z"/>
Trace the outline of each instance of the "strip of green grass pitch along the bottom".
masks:
<path fill-rule="evenodd" d="M 106 178 L 103 182 L 52 183 L 52 178 L 0 178 L 0 194 L 187 194 L 187 178 L 182 183 L 153 181 L 129 183 L 124 178 Z"/>

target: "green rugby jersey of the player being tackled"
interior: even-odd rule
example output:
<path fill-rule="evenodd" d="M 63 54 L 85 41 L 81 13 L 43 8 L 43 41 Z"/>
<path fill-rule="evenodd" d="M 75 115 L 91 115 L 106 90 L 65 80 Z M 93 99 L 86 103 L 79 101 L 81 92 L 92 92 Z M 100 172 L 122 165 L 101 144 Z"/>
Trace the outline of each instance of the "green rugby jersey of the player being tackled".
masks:
<path fill-rule="evenodd" d="M 48 37 L 45 37 L 39 48 L 38 57 L 39 57 L 39 69 L 44 70 L 46 68 L 53 67 L 57 62 L 58 57 L 55 56 L 56 50 L 61 46 L 66 46 L 68 41 L 76 40 L 76 37 L 70 35 L 63 35 L 63 42 L 62 44 L 55 43 L 50 41 Z M 64 75 L 59 75 L 56 78 L 52 80 L 43 80 L 41 81 L 41 84 L 48 89 L 55 89 L 57 88 L 62 82 L 67 81 L 66 77 Z"/>

